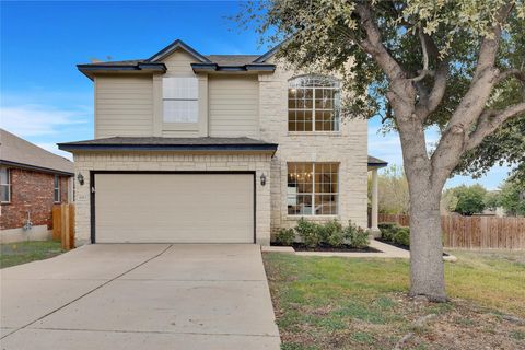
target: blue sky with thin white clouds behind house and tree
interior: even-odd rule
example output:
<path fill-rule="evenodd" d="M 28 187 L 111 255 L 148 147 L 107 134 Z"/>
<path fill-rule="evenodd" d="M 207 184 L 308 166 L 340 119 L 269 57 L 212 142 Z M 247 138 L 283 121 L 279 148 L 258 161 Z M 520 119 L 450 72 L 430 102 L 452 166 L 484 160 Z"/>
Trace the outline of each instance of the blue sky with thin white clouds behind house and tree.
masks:
<path fill-rule="evenodd" d="M 176 38 L 209 54 L 264 54 L 253 31 L 228 18 L 234 1 L 3 1 L 0 0 L 0 126 L 44 149 L 93 138 L 93 85 L 75 65 L 91 59 L 147 58 Z M 369 121 L 369 154 L 402 165 L 396 133 Z M 429 144 L 439 139 L 427 135 Z M 495 189 L 508 167 L 487 176 L 455 176 L 446 187 L 480 183 Z"/>

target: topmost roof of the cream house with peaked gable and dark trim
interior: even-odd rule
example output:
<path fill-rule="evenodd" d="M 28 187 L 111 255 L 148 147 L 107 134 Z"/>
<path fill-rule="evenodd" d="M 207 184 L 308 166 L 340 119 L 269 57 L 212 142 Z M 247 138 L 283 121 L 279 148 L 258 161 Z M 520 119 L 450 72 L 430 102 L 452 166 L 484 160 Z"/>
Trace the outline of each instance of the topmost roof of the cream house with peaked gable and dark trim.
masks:
<path fill-rule="evenodd" d="M 183 49 L 191 55 L 197 62 L 191 63 L 195 72 L 272 72 L 275 65 L 266 63 L 273 56 L 279 46 L 264 55 L 208 55 L 205 56 L 180 39 L 176 39 L 150 58 L 131 59 L 121 61 L 106 61 L 77 65 L 77 68 L 88 78 L 93 79 L 94 73 L 131 71 L 131 72 L 165 72 L 166 67 L 162 60 L 177 49 Z"/>

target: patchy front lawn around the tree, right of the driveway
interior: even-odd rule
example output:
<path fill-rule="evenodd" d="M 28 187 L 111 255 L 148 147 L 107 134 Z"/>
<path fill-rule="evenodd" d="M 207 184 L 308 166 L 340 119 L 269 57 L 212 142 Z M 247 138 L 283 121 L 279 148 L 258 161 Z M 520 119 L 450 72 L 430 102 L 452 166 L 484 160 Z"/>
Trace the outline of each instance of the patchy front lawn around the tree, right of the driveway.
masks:
<path fill-rule="evenodd" d="M 282 348 L 524 349 L 523 252 L 450 253 L 445 304 L 406 296 L 404 259 L 265 254 Z"/>

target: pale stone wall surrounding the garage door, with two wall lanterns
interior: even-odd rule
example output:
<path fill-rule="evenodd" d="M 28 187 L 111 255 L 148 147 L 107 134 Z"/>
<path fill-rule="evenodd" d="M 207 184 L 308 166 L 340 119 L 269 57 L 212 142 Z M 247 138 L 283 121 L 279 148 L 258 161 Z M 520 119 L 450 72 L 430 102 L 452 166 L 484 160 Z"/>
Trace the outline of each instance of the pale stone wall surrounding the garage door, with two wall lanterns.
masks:
<path fill-rule="evenodd" d="M 90 171 L 256 171 L 256 241 L 270 242 L 270 159 L 271 154 L 188 154 L 173 152 L 77 152 L 75 174 L 84 176 L 84 185 L 75 184 L 75 244 L 91 242 Z M 260 175 L 267 176 L 266 186 Z M 232 213 L 235 214 L 235 213 Z"/>

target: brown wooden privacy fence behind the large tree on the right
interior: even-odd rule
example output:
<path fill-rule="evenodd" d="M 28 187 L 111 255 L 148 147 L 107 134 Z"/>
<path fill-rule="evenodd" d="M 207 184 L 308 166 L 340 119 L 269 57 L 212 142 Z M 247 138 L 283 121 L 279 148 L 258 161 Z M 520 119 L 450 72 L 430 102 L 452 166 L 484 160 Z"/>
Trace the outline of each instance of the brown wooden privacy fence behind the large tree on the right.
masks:
<path fill-rule="evenodd" d="M 380 222 L 408 226 L 410 217 L 380 214 Z M 525 218 L 442 215 L 445 247 L 525 249 Z"/>

